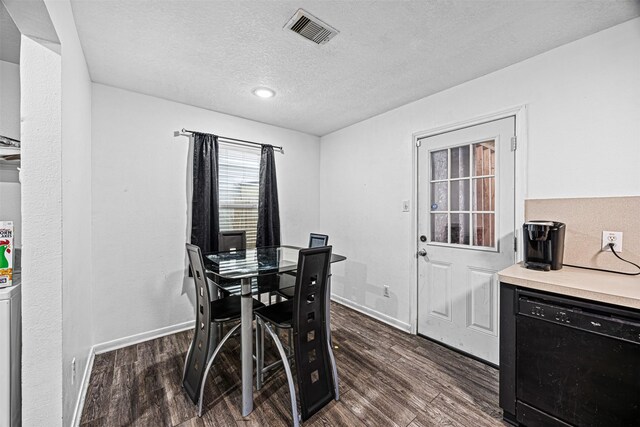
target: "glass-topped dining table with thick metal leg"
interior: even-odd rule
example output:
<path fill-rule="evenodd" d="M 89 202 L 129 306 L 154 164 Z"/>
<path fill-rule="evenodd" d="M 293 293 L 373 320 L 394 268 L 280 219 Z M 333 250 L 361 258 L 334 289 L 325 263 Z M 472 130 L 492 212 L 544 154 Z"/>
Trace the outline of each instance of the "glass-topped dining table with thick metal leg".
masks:
<path fill-rule="evenodd" d="M 279 274 L 296 271 L 298 251 L 295 246 L 270 246 L 256 249 L 203 254 L 206 273 L 215 285 L 241 295 L 240 342 L 242 364 L 242 415 L 253 411 L 253 295 L 275 292 L 295 286 L 295 280 L 281 280 Z M 344 261 L 332 254 L 331 263 Z M 282 277 L 287 276 L 283 275 Z M 240 286 L 238 286 L 240 281 Z M 327 292 L 329 298 L 331 292 Z M 329 307 L 327 301 L 327 308 Z M 329 319 L 329 313 L 327 313 Z M 327 322 L 327 328 L 329 322 Z"/>

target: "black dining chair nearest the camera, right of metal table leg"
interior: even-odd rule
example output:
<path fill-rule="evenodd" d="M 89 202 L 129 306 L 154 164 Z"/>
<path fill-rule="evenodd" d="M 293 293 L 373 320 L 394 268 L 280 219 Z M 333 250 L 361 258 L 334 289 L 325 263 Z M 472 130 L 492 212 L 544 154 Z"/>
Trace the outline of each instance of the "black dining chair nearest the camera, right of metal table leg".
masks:
<path fill-rule="evenodd" d="M 338 400 L 338 373 L 331 349 L 329 316 L 329 265 L 331 246 L 301 249 L 294 297 L 290 300 L 257 309 L 256 361 L 257 388 L 263 384 L 264 374 L 282 364 L 289 383 L 291 413 L 294 426 L 305 421 L 331 400 Z M 289 358 L 274 328 L 293 332 L 293 358 L 300 396 L 300 412 Z M 281 362 L 264 366 L 264 331 L 271 336 Z M 291 349 L 289 349 L 291 350 Z"/>

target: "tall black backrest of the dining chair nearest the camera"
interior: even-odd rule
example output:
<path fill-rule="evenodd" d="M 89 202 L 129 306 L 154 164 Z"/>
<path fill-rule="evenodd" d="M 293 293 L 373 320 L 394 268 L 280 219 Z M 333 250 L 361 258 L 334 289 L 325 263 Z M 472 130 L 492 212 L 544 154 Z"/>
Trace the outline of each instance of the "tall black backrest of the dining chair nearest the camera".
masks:
<path fill-rule="evenodd" d="M 293 345 L 302 420 L 335 398 L 327 335 L 331 246 L 301 249 L 293 299 Z"/>

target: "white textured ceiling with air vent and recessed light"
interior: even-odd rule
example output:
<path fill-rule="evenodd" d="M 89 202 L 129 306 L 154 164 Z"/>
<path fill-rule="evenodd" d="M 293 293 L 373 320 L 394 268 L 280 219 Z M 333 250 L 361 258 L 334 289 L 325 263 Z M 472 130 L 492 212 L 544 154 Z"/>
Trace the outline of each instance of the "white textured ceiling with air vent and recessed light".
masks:
<path fill-rule="evenodd" d="M 95 82 L 314 135 L 640 15 L 640 1 L 72 0 Z M 304 8 L 340 31 L 318 46 Z M 251 94 L 257 86 L 275 98 Z"/>

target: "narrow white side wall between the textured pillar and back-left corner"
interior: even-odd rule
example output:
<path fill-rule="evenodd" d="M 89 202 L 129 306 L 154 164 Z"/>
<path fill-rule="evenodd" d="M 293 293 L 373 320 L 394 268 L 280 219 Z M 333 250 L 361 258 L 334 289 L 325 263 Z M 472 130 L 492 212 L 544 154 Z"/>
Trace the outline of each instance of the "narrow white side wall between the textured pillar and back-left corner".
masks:
<path fill-rule="evenodd" d="M 62 45 L 62 411 L 70 425 L 93 345 L 91 80 L 69 0 L 46 5 Z"/>

